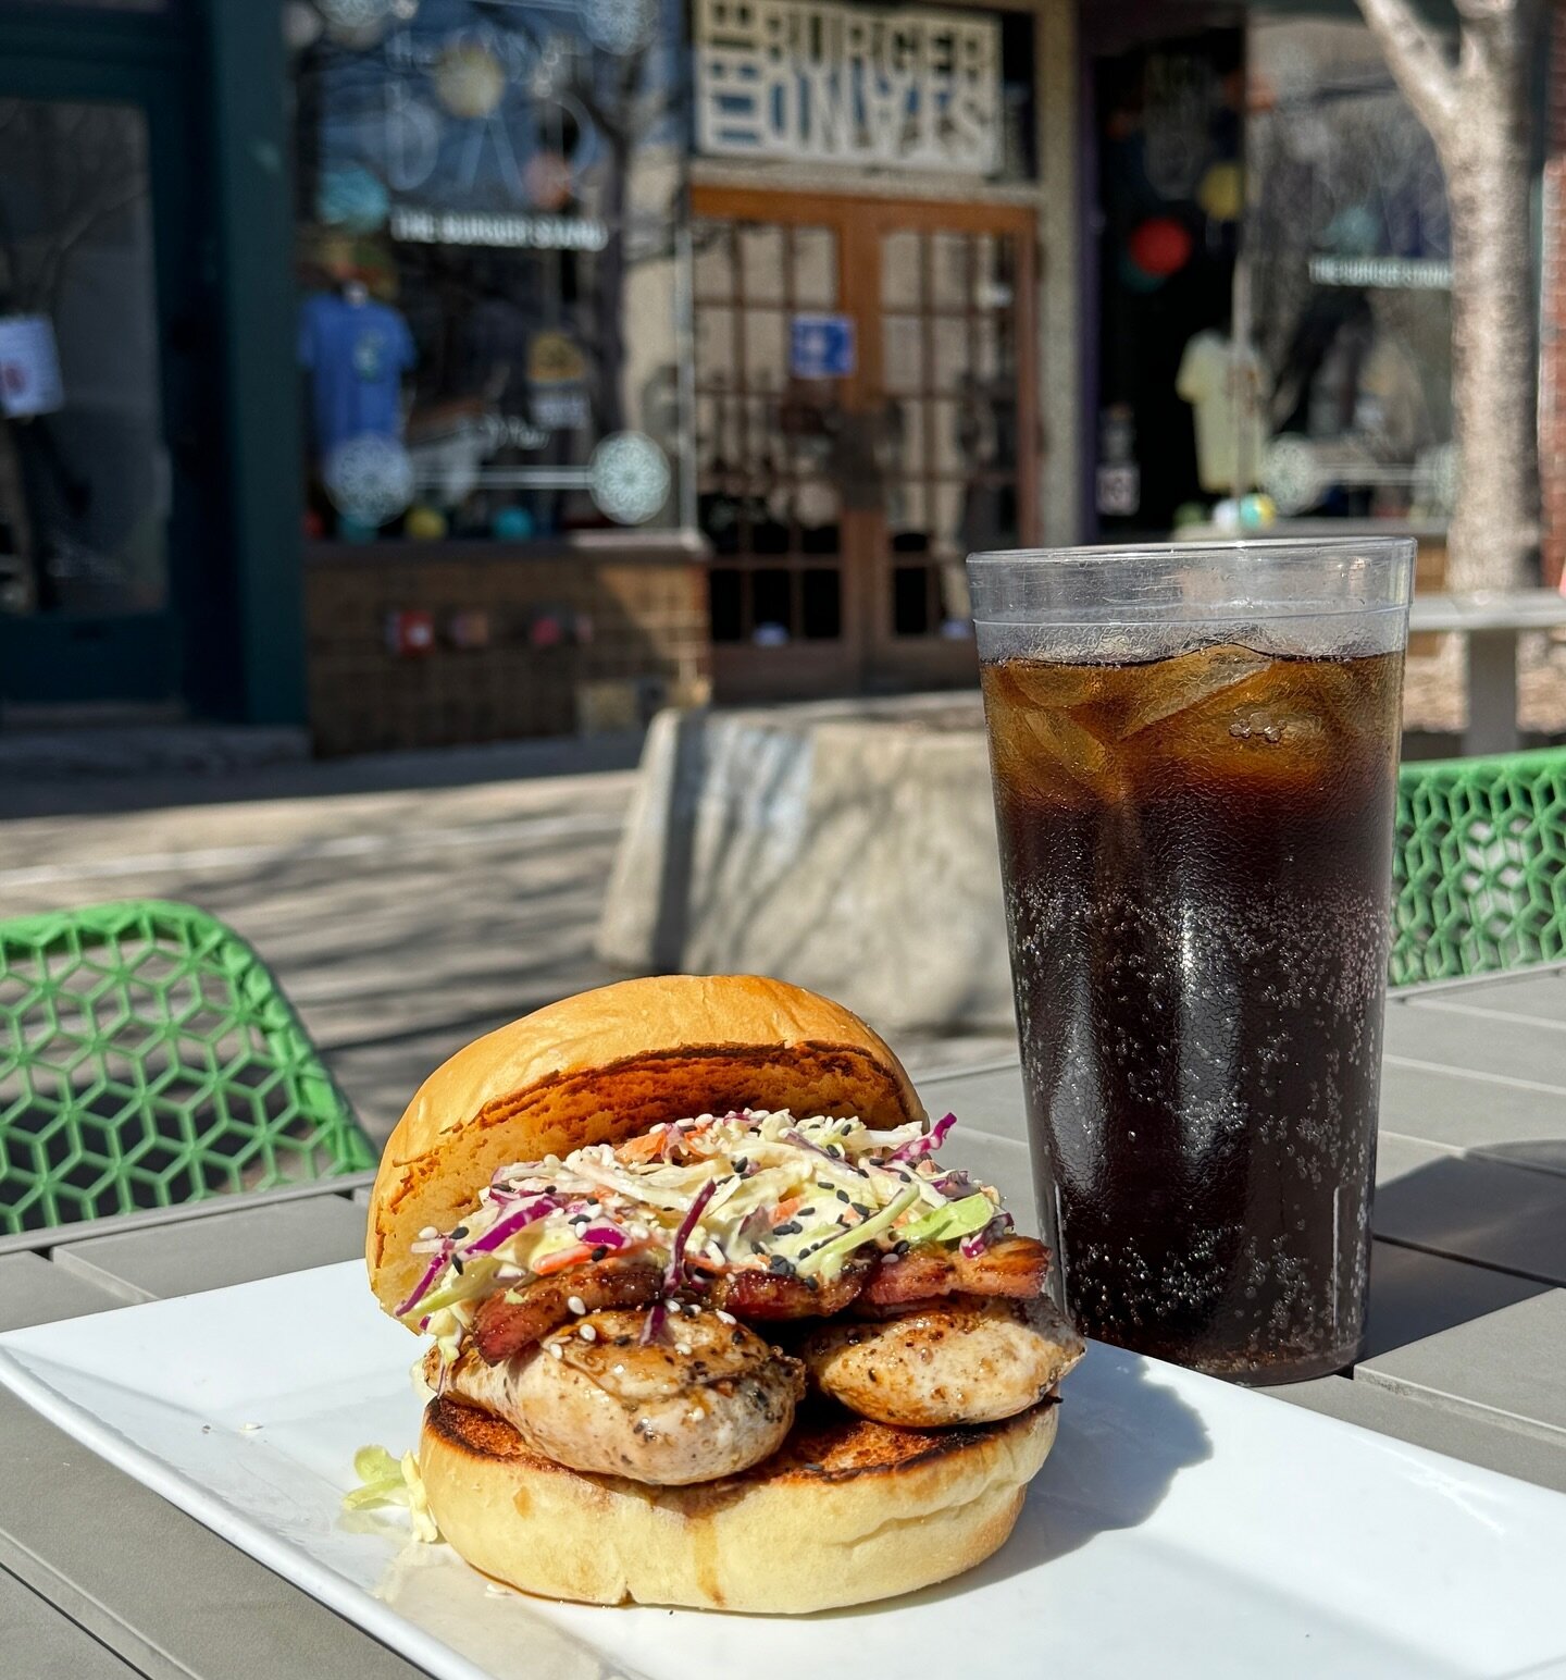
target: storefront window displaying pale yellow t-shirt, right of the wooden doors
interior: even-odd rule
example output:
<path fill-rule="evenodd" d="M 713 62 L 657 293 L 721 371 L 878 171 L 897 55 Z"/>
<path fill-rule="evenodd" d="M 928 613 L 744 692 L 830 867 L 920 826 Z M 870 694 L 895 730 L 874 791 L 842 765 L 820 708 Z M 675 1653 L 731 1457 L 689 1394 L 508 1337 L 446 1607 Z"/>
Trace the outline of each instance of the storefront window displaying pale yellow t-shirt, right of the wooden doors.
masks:
<path fill-rule="evenodd" d="M 1291 0 L 1212 17 L 1094 59 L 1098 529 L 1266 526 L 1254 491 L 1282 519 L 1440 522 L 1452 265 L 1430 136 L 1363 22 Z"/>

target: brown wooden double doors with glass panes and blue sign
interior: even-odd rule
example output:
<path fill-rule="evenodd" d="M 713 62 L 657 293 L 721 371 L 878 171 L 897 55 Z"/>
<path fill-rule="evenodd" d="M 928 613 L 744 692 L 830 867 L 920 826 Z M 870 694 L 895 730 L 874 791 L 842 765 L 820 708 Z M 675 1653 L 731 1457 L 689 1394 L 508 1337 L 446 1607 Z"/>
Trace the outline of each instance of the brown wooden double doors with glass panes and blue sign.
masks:
<path fill-rule="evenodd" d="M 693 210 L 718 699 L 972 680 L 963 556 L 1036 539 L 1032 215 L 732 188 Z"/>

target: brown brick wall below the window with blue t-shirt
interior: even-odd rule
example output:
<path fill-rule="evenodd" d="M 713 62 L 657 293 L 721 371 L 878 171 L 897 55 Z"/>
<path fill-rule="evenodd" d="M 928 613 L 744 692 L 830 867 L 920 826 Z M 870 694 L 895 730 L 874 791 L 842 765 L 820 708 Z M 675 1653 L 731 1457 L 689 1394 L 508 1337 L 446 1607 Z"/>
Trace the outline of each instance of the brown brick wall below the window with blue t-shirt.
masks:
<path fill-rule="evenodd" d="M 678 543 L 322 544 L 305 596 L 322 754 L 614 727 L 707 692 L 705 568 Z M 388 620 L 408 612 L 433 620 L 428 654 L 388 647 Z M 488 645 L 460 647 L 475 618 Z"/>

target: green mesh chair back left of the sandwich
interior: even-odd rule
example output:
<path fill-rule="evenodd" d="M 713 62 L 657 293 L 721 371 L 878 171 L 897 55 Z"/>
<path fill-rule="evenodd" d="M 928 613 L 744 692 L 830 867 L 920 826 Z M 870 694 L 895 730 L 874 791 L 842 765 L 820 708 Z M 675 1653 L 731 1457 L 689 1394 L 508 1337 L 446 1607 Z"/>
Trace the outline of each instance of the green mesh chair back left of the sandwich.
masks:
<path fill-rule="evenodd" d="M 374 1166 L 267 966 L 190 904 L 0 922 L 0 1231 Z"/>

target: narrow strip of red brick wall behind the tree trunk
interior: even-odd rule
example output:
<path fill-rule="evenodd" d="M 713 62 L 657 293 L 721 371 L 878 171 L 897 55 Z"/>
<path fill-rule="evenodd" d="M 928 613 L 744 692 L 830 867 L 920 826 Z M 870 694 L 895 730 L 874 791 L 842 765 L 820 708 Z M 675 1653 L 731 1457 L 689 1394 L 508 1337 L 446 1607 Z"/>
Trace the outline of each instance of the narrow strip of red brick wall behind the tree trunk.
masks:
<path fill-rule="evenodd" d="M 1544 581 L 1566 563 L 1566 3 L 1549 7 L 1549 89 L 1539 276 L 1539 501 Z"/>

